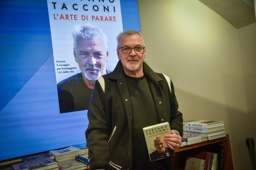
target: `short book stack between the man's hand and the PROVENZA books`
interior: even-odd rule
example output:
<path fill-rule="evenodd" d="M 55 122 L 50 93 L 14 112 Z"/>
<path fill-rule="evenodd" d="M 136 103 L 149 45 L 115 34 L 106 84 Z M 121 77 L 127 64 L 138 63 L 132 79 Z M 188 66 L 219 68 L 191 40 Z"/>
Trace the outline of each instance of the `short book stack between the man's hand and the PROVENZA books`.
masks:
<path fill-rule="evenodd" d="M 208 135 L 203 133 L 195 133 L 195 132 L 183 132 L 182 141 L 186 142 L 186 145 L 195 144 L 199 142 L 207 141 Z"/>

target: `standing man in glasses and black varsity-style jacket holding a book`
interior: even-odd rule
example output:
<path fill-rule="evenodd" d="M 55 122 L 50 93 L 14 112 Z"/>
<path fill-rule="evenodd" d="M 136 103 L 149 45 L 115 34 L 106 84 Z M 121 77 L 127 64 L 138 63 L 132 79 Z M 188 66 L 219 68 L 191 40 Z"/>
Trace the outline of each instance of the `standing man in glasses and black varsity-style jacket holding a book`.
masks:
<path fill-rule="evenodd" d="M 165 170 L 171 158 L 150 161 L 143 128 L 168 121 L 168 147 L 179 149 L 182 113 L 171 80 L 144 62 L 142 35 L 126 31 L 117 37 L 115 70 L 95 82 L 85 132 L 90 169 Z"/>

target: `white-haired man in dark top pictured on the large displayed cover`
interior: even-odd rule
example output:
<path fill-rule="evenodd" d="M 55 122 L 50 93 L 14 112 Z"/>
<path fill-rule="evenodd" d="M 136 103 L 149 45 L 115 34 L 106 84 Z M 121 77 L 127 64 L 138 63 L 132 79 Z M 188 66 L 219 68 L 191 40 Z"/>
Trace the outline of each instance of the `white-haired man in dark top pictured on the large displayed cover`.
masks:
<path fill-rule="evenodd" d="M 87 110 L 95 81 L 110 72 L 106 70 L 106 34 L 87 24 L 76 26 L 72 36 L 74 58 L 81 72 L 57 84 L 60 113 Z"/>

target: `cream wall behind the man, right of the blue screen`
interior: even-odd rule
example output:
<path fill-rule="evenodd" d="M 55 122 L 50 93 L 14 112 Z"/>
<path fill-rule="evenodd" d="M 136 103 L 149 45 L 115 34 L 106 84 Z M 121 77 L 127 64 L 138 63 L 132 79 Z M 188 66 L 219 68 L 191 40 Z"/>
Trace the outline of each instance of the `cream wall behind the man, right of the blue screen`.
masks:
<path fill-rule="evenodd" d="M 174 82 L 183 119 L 224 120 L 235 169 L 252 169 L 245 141 L 252 137 L 247 99 L 253 99 L 239 40 L 253 29 L 238 31 L 198 0 L 138 0 L 138 7 L 145 61 Z"/>

